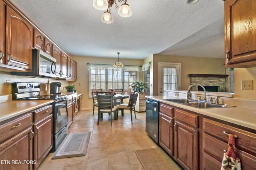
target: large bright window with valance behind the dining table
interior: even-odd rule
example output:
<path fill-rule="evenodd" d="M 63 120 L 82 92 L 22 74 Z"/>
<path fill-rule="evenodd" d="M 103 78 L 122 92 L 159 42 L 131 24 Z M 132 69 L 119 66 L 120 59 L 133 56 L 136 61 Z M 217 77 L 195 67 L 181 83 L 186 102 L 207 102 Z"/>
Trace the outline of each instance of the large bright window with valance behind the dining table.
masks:
<path fill-rule="evenodd" d="M 116 68 L 112 65 L 88 64 L 89 65 L 89 87 L 91 89 L 123 89 L 128 94 L 128 88 L 135 80 L 139 80 L 139 66 L 124 66 Z"/>

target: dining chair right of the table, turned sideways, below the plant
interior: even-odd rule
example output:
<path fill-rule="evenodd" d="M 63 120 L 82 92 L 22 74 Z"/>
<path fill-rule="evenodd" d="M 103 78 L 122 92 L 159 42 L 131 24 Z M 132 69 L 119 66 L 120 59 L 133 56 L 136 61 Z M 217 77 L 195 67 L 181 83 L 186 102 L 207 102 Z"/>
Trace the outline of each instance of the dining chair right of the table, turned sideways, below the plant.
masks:
<path fill-rule="evenodd" d="M 135 105 L 136 105 L 136 102 L 137 102 L 137 98 L 138 98 L 138 93 L 134 92 L 133 94 L 130 95 L 128 104 L 124 103 L 124 104 L 118 105 L 117 106 L 116 119 L 118 119 L 119 110 L 130 110 L 131 121 L 132 121 L 132 110 L 134 110 L 134 116 L 136 118 Z"/>

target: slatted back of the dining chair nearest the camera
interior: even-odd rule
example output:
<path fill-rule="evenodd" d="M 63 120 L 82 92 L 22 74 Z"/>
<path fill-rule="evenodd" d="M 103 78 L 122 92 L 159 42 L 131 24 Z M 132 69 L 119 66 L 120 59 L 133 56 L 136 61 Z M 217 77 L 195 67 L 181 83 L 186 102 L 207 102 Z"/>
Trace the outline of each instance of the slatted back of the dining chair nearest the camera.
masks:
<path fill-rule="evenodd" d="M 113 107 L 112 92 L 96 92 L 98 109 L 111 109 Z"/>

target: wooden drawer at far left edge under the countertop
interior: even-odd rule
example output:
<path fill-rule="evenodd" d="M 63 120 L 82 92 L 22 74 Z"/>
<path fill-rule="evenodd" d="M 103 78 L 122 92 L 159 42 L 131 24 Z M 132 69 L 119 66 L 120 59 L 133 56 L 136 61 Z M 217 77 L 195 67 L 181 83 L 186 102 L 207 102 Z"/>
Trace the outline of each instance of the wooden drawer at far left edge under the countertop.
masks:
<path fill-rule="evenodd" d="M 24 128 L 31 126 L 32 124 L 32 114 L 28 113 L 22 117 L 19 117 L 13 121 L 5 123 L 0 126 L 0 141 L 5 139 L 6 137 L 10 137 L 10 135 L 18 133 L 22 131 Z"/>

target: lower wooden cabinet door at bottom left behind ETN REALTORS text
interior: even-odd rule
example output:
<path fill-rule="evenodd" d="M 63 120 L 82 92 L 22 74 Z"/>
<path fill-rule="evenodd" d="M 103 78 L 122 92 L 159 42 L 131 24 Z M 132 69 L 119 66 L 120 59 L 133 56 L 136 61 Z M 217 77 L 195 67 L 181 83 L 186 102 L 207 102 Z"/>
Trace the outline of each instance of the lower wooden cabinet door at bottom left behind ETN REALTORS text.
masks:
<path fill-rule="evenodd" d="M 24 160 L 33 160 L 32 137 L 30 127 L 0 145 L 0 160 L 10 161 L 0 164 L 1 170 L 32 170 L 32 164 L 24 162 Z M 23 164 L 12 163 L 12 160 L 22 161 Z"/>

